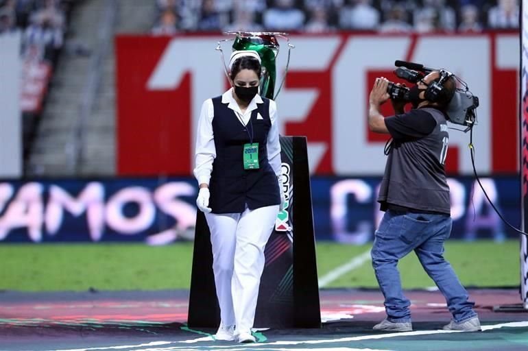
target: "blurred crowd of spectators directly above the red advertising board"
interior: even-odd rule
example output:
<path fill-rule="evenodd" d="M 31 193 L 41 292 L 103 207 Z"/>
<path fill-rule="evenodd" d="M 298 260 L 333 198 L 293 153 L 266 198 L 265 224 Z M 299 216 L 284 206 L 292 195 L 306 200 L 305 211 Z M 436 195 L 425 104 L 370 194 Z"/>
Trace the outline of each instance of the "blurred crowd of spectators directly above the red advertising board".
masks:
<path fill-rule="evenodd" d="M 481 32 L 519 25 L 518 0 L 155 0 L 152 32 Z M 170 20 L 168 20 L 170 19 Z"/>

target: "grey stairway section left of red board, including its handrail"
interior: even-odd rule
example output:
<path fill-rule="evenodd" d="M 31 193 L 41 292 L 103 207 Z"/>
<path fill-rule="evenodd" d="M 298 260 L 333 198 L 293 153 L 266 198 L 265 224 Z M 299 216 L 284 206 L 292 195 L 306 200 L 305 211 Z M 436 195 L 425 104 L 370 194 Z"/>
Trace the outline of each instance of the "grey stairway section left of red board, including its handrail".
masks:
<path fill-rule="evenodd" d="M 152 16 L 152 3 L 143 0 L 78 1 L 65 45 L 82 45 L 91 56 L 61 55 L 27 160 L 28 175 L 115 173 L 113 37 L 148 32 Z"/>

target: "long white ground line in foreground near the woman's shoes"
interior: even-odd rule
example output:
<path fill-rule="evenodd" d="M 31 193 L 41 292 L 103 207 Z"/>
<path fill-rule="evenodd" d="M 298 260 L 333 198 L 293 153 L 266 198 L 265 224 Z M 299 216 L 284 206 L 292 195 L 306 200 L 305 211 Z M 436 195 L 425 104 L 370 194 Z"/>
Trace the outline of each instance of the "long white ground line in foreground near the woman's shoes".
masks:
<path fill-rule="evenodd" d="M 528 327 L 528 321 L 526 322 L 509 322 L 509 323 L 501 323 L 501 324 L 495 324 L 492 326 L 482 326 L 483 332 L 486 332 L 488 330 L 494 330 L 499 328 L 527 328 Z M 276 348 L 272 349 L 269 348 L 269 346 L 291 346 L 291 345 L 301 345 L 301 344 L 320 344 L 320 343 L 342 343 L 342 342 L 349 342 L 349 341 L 363 341 L 363 340 L 377 340 L 377 339 L 387 339 L 387 338 L 393 338 L 393 337 L 411 337 L 416 335 L 434 335 L 434 334 L 449 334 L 453 332 L 461 332 L 458 330 L 417 330 L 413 332 L 392 332 L 387 334 L 377 334 L 377 335 L 362 335 L 360 337 L 342 337 L 339 339 L 322 339 L 322 340 L 296 340 L 296 341 L 274 341 L 271 343 L 252 343 L 251 345 L 248 344 L 240 344 L 240 345 L 201 345 L 201 346 L 176 346 L 178 343 L 180 345 L 182 343 L 189 343 L 189 340 L 184 341 L 153 341 L 151 343 L 141 343 L 139 345 L 134 346 L 108 346 L 108 347 L 100 347 L 100 348 L 77 348 L 77 349 L 67 349 L 67 350 L 56 350 L 56 351 L 91 351 L 91 350 L 120 350 L 120 349 L 135 349 L 135 348 L 144 348 L 146 346 L 162 346 L 167 344 L 172 344 L 172 346 L 165 346 L 163 348 L 148 348 L 148 349 L 141 349 L 141 351 L 177 351 L 177 350 L 193 350 L 193 349 L 208 349 L 208 350 L 222 350 L 222 351 L 228 351 L 228 350 L 246 350 L 246 349 L 254 349 L 254 348 L 267 348 L 270 350 L 283 350 L 283 348 Z M 478 332 L 475 332 L 473 335 L 477 336 Z M 200 338 L 200 339 L 206 339 L 206 338 Z M 195 341 L 198 341 L 198 339 L 195 339 Z M 176 344 L 176 345 L 175 345 Z M 303 350 L 303 349 L 296 349 L 296 350 Z M 311 348 L 310 350 L 313 350 Z M 355 350 L 353 348 L 326 348 L 326 350 Z M 368 349 L 361 349 L 363 351 L 366 351 Z"/>

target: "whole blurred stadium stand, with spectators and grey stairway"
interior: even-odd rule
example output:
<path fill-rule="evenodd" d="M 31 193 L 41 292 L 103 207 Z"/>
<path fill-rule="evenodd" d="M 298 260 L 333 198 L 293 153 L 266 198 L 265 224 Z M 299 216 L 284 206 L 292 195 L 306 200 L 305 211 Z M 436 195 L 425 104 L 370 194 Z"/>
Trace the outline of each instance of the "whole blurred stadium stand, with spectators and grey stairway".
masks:
<path fill-rule="evenodd" d="M 25 175 L 114 175 L 114 34 L 481 32 L 518 16 L 518 0 L 0 0 L 0 33 L 23 31 Z"/>

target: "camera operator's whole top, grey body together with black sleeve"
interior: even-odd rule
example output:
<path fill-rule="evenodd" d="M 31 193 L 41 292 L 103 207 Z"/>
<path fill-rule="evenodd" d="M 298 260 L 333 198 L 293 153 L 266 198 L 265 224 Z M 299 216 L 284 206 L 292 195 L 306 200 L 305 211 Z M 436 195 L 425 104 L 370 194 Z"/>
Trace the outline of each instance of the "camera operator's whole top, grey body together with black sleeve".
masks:
<path fill-rule="evenodd" d="M 434 108 L 419 108 L 387 117 L 385 125 L 394 142 L 380 187 L 381 210 L 449 214 L 445 115 Z"/>

